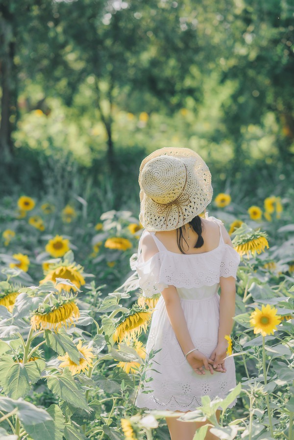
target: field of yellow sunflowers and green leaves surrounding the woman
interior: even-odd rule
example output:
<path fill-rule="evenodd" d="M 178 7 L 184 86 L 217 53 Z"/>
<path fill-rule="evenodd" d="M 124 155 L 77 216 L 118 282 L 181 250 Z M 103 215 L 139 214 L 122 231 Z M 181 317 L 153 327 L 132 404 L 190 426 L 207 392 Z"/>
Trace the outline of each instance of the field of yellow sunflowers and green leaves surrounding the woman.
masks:
<path fill-rule="evenodd" d="M 241 255 L 227 336 L 238 385 L 182 420 L 206 417 L 221 439 L 293 440 L 294 198 L 254 203 L 220 193 L 208 207 Z M 81 198 L 1 201 L 0 439 L 169 438 L 166 413 L 134 406 L 159 298 L 145 299 L 130 269 L 142 228 L 130 211 L 100 214 Z"/>

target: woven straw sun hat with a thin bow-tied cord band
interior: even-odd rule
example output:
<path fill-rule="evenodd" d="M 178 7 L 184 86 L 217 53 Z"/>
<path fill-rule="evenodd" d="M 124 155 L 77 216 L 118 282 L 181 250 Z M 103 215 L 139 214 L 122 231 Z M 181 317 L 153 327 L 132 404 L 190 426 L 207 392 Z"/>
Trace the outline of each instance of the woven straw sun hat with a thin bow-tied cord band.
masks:
<path fill-rule="evenodd" d="M 140 166 L 140 221 L 150 231 L 189 223 L 211 202 L 208 166 L 190 148 L 160 148 Z"/>

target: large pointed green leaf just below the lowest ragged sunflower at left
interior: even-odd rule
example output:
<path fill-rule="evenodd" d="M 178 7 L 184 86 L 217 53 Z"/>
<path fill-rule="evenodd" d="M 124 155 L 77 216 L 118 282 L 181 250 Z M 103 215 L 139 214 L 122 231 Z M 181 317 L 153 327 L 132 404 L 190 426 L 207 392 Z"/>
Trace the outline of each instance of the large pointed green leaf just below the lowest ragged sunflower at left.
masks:
<path fill-rule="evenodd" d="M 90 411 L 85 395 L 78 389 L 72 374 L 65 368 L 62 375 L 49 377 L 48 388 L 60 399 L 66 400 L 76 408 Z"/>

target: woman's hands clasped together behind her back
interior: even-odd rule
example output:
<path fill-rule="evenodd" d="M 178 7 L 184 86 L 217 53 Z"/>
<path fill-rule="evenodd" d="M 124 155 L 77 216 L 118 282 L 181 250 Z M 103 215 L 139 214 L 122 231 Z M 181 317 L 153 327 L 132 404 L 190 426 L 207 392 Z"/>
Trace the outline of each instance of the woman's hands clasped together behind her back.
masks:
<path fill-rule="evenodd" d="M 210 371 L 211 374 L 214 371 L 225 373 L 224 359 L 226 357 L 227 342 L 219 343 L 210 357 L 205 356 L 201 351 L 192 351 L 187 356 L 187 361 L 196 372 L 196 374 L 205 374 L 205 370 Z"/>

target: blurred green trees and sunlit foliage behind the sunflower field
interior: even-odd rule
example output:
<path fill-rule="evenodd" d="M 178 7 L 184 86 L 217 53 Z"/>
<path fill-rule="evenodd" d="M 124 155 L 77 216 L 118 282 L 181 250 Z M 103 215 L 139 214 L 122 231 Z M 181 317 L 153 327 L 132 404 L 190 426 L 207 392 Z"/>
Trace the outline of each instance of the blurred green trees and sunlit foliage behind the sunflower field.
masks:
<path fill-rule="evenodd" d="M 1 0 L 1 198 L 137 215 L 140 162 L 166 146 L 244 208 L 286 196 L 293 43 L 291 0 Z"/>

